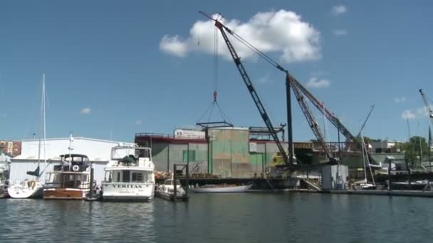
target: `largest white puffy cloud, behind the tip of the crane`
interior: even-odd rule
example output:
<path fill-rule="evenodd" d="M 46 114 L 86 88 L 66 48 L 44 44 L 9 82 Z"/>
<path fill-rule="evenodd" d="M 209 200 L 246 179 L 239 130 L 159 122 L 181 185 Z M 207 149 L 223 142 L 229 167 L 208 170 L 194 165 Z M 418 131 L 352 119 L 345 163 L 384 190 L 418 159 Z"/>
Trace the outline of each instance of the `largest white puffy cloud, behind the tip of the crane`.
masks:
<path fill-rule="evenodd" d="M 216 18 L 216 14 L 213 16 Z M 221 19 L 221 23 L 239 36 L 249 41 L 264 53 L 276 53 L 286 63 L 320 58 L 320 33 L 302 20 L 301 16 L 293 11 L 259 12 L 249 21 L 241 22 L 236 19 Z M 162 37 L 160 50 L 170 55 L 184 57 L 188 53 L 214 54 L 214 22 L 197 21 L 189 30 L 187 38 L 178 35 Z M 226 32 L 227 33 L 227 32 Z M 231 55 L 219 31 L 218 54 L 231 60 Z M 229 33 L 231 43 L 239 57 L 256 58 L 254 51 L 235 40 Z"/>

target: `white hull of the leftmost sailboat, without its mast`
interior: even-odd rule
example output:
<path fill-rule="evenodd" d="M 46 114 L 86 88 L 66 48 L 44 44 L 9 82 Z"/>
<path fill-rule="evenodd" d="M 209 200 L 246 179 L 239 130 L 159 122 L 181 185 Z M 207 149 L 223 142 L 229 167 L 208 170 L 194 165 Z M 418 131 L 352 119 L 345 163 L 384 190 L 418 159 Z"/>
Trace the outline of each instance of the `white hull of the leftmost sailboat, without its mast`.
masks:
<path fill-rule="evenodd" d="M 9 185 L 8 193 L 11 198 L 42 198 L 43 185 L 38 180 L 23 180 L 21 183 Z"/>

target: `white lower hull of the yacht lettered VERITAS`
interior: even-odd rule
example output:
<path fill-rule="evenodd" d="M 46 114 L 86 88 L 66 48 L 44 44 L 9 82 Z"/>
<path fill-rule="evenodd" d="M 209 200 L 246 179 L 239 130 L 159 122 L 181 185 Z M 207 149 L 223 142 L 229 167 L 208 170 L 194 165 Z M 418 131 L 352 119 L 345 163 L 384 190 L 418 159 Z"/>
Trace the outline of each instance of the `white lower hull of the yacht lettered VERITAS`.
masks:
<path fill-rule="evenodd" d="M 148 201 L 154 195 L 153 183 L 103 183 L 103 200 Z"/>

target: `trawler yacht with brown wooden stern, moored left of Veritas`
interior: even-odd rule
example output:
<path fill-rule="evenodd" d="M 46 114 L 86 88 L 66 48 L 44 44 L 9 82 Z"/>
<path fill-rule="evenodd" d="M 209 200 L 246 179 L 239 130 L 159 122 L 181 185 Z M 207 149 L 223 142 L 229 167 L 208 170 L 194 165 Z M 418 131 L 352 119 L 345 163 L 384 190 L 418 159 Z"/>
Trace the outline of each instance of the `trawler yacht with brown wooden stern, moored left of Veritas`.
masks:
<path fill-rule="evenodd" d="M 93 188 L 88 156 L 64 154 L 60 158 L 61 165 L 54 166 L 53 171 L 48 173 L 43 198 L 82 200 L 90 192 L 90 188 Z"/>

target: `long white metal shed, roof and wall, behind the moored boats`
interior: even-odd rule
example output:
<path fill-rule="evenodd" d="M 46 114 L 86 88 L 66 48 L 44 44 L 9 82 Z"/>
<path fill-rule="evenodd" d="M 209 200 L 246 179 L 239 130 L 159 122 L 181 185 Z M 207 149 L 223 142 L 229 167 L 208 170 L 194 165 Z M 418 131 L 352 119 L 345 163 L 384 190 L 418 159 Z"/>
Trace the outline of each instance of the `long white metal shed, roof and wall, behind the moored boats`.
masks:
<path fill-rule="evenodd" d="M 93 161 L 95 180 L 96 183 L 100 185 L 104 177 L 104 168 L 110 160 L 111 148 L 120 144 L 125 146 L 133 145 L 133 143 L 76 137 L 73 138 L 73 149 L 71 150 L 71 153 L 84 154 L 85 156 L 88 156 L 90 161 Z M 9 175 L 9 180 L 11 181 L 21 181 L 33 178 L 32 175 L 27 175 L 26 172 L 35 171 L 38 167 L 39 141 L 23 140 L 21 146 L 21 155 L 11 159 Z M 46 139 L 44 152 L 43 141 L 41 141 L 41 156 L 39 161 L 41 180 L 45 180 L 45 172 L 52 171 L 53 166 L 60 163 L 59 156 L 69 153 L 69 146 L 69 138 Z M 47 168 L 45 168 L 43 162 L 45 154 Z"/>

